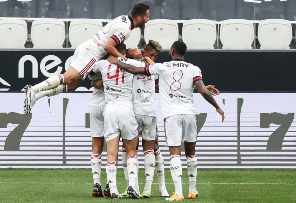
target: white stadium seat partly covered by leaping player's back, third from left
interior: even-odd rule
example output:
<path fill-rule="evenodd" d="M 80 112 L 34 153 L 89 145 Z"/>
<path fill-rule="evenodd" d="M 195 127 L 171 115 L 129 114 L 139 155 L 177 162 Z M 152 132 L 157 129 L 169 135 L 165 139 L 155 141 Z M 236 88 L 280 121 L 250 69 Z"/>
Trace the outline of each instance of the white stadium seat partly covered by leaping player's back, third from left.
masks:
<path fill-rule="evenodd" d="M 70 22 L 69 40 L 72 48 L 76 49 L 78 45 L 86 40 L 92 39 L 103 27 L 102 22 L 96 19 L 81 19 Z"/>

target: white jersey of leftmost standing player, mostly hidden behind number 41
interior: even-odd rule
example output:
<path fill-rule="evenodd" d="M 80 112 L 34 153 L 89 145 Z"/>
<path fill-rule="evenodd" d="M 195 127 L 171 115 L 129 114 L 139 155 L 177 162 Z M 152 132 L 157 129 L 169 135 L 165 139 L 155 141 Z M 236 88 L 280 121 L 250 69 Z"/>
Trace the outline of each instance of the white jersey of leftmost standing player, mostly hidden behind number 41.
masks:
<path fill-rule="evenodd" d="M 93 71 L 88 75 L 90 80 L 99 80 L 102 79 L 101 73 L 96 73 L 94 75 Z M 99 89 L 94 88 L 93 94 L 91 95 L 90 99 L 90 106 L 103 106 L 105 105 L 105 96 L 104 96 L 104 87 L 101 87 Z"/>

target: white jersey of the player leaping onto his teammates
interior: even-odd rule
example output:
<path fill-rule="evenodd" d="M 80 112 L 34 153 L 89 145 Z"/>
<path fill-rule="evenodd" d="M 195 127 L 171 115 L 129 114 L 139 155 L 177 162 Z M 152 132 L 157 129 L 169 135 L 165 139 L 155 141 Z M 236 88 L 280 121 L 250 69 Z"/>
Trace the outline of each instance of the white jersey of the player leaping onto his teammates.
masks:
<path fill-rule="evenodd" d="M 111 38 L 118 45 L 131 35 L 132 29 L 133 19 L 130 16 L 118 16 L 108 22 L 102 30 L 99 30 L 99 32 L 93 36 L 93 41 L 104 48 L 107 41 Z"/>

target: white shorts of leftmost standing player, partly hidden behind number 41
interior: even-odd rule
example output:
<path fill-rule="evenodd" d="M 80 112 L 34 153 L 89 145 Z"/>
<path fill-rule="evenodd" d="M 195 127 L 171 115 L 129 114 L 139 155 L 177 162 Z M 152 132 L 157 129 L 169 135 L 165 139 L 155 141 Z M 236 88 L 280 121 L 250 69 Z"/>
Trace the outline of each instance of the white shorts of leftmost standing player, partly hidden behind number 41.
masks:
<path fill-rule="evenodd" d="M 91 137 L 104 137 L 104 112 L 105 105 L 89 108 L 89 124 Z"/>

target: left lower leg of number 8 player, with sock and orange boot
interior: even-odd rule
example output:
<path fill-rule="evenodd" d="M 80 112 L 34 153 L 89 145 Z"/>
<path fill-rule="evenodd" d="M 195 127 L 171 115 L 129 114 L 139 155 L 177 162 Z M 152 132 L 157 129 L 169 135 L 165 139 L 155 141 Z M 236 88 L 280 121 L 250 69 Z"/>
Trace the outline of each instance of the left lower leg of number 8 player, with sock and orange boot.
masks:
<path fill-rule="evenodd" d="M 181 146 L 169 146 L 170 149 L 170 173 L 174 181 L 175 192 L 167 201 L 183 201 L 182 192 L 182 165 L 181 165 Z"/>

